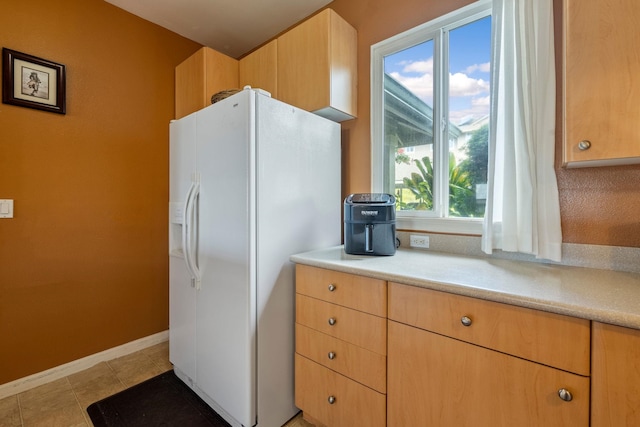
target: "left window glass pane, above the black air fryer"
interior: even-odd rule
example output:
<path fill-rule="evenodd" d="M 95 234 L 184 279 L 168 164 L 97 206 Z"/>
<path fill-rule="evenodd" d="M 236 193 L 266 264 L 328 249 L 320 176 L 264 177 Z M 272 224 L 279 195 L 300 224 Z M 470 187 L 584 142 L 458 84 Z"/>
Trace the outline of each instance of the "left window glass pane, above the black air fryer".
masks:
<path fill-rule="evenodd" d="M 432 211 L 434 42 L 384 59 L 384 191 L 400 210 Z"/>

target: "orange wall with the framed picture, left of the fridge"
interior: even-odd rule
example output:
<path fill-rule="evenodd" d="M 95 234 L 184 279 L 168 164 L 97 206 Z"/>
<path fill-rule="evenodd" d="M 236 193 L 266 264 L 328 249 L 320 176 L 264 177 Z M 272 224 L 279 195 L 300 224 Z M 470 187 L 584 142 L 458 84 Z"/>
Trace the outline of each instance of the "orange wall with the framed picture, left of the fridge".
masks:
<path fill-rule="evenodd" d="M 174 68 L 200 46 L 102 0 L 2 3 L 67 114 L 0 104 L 0 384 L 168 328 Z"/>

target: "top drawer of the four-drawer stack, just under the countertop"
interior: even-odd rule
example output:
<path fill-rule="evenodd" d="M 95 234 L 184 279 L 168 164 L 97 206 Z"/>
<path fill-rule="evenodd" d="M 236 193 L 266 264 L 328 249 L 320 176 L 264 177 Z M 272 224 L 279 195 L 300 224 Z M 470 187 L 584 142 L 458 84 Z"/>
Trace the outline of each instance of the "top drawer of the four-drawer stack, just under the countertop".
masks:
<path fill-rule="evenodd" d="M 376 316 L 387 316 L 384 280 L 298 264 L 296 292 Z"/>

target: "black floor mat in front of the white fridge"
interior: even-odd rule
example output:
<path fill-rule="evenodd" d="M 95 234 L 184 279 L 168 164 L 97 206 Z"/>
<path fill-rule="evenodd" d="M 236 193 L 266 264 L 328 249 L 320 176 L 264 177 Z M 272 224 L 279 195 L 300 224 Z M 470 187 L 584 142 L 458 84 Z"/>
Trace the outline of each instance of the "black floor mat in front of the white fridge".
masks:
<path fill-rule="evenodd" d="M 95 427 L 230 427 L 173 371 L 91 404 Z"/>

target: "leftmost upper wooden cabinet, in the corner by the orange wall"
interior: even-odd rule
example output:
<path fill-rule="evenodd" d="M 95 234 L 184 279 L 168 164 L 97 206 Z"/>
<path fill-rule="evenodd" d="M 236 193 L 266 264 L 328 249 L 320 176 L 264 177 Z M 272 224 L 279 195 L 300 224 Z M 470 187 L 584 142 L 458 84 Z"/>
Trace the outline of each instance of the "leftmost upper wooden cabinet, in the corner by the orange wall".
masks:
<path fill-rule="evenodd" d="M 176 67 L 176 119 L 211 105 L 211 95 L 238 88 L 238 61 L 203 47 Z"/>

